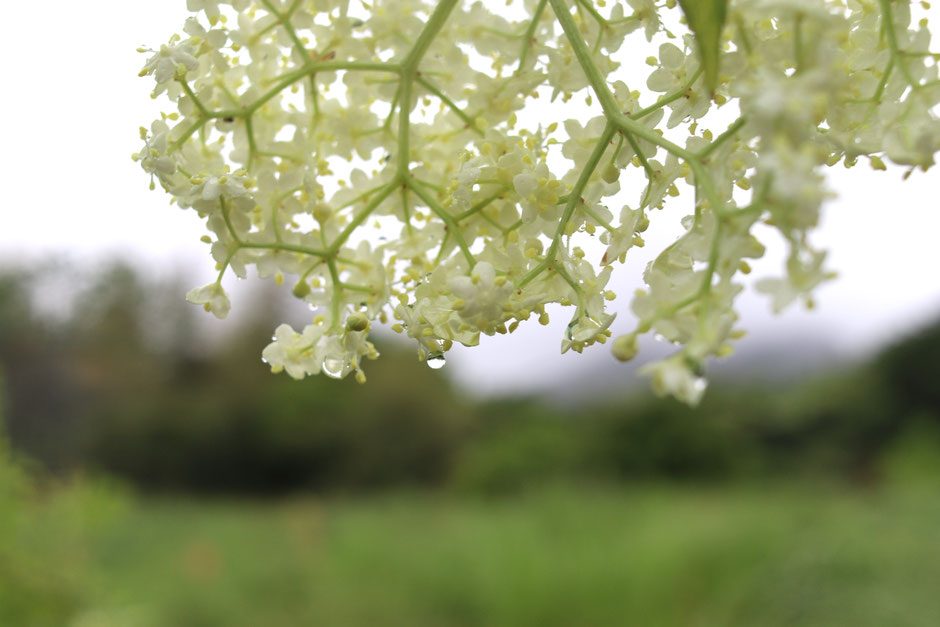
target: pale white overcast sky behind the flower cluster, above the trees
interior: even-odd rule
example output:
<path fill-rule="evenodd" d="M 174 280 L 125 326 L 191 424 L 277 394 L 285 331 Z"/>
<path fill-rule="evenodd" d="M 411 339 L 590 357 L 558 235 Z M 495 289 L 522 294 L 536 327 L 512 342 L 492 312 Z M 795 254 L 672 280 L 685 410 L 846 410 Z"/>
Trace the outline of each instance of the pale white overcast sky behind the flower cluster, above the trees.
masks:
<path fill-rule="evenodd" d="M 940 23 L 938 10 L 931 13 Z M 137 128 L 149 126 L 159 110 L 149 97 L 151 81 L 137 77 L 145 57 L 135 49 L 159 46 L 187 15 L 184 0 L 7 3 L 0 21 L 6 85 L 0 261 L 63 252 L 87 261 L 125 255 L 156 273 L 185 267 L 195 281 L 212 275 L 198 241 L 201 222 L 169 206 L 162 192 L 150 192 L 130 158 L 140 147 Z M 747 295 L 740 308 L 751 333 L 746 341 L 803 335 L 861 354 L 940 315 L 940 170 L 906 182 L 901 174 L 861 166 L 834 172 L 839 199 L 827 207 L 815 241 L 830 249 L 840 278 L 819 290 L 810 314 L 773 317 L 764 299 Z M 779 273 L 781 252 L 771 247 L 752 276 Z M 642 269 L 634 264 L 618 275 L 624 294 Z M 631 326 L 623 310 L 617 332 Z M 565 322 L 488 339 L 456 353 L 451 369 L 493 390 L 537 388 L 609 359 L 603 347 L 588 358 L 559 355 Z"/>

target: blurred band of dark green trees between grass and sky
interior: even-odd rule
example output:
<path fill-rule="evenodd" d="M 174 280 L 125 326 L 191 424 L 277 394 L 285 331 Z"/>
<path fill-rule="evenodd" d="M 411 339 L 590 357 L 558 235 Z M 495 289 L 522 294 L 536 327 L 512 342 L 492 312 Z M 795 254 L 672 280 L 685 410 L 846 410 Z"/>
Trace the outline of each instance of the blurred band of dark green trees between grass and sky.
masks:
<path fill-rule="evenodd" d="M 253 312 L 212 339 L 178 293 L 120 263 L 0 272 L 11 442 L 56 471 L 101 468 L 152 489 L 499 493 L 584 478 L 871 481 L 908 422 L 940 423 L 940 325 L 864 367 L 715 389 L 697 410 L 648 397 L 566 409 L 462 398 L 395 343 L 380 342 L 367 386 L 271 377 L 256 357 L 279 309 L 271 293 L 249 288 Z"/>

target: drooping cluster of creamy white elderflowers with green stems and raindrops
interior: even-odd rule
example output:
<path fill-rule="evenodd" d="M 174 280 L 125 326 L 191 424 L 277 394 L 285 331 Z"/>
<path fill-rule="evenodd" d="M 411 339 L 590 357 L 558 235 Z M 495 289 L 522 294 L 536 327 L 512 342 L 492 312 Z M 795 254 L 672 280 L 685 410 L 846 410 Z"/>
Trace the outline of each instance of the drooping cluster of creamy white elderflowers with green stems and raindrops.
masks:
<path fill-rule="evenodd" d="M 276 329 L 272 370 L 363 382 L 375 321 L 440 365 L 559 306 L 563 352 L 605 343 L 613 266 L 675 206 L 684 234 L 642 273 L 612 348 L 675 344 L 645 371 L 694 403 L 741 335 L 755 225 L 790 250 L 756 288 L 777 310 L 810 302 L 831 275 L 809 242 L 825 168 L 926 170 L 940 148 L 936 57 L 907 0 L 724 3 L 714 84 L 675 0 L 508 4 L 524 17 L 472 0 L 188 0 L 182 34 L 142 50 L 171 106 L 134 158 L 206 221 L 219 271 L 188 299 L 224 317 L 223 277 L 253 267 L 313 310 Z M 644 58 L 645 84 L 619 78 Z M 527 123 L 573 97 L 583 116 Z"/>

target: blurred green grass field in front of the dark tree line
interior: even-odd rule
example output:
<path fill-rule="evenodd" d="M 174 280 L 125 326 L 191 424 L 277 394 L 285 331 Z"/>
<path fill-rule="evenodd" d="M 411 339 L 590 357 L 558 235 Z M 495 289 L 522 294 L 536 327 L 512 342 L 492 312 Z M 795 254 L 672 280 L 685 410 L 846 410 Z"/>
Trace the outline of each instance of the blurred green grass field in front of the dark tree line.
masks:
<path fill-rule="evenodd" d="M 145 500 L 92 553 L 80 627 L 940 624 L 935 490 Z"/>

